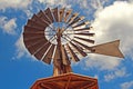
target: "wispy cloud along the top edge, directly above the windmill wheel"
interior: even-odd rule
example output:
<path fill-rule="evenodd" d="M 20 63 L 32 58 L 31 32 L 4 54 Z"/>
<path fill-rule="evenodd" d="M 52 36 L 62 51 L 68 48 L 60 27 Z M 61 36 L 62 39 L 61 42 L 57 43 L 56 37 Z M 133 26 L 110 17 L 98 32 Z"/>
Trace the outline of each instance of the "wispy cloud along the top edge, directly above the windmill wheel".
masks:
<path fill-rule="evenodd" d="M 89 10 L 85 12 L 90 12 L 92 9 L 102 8 L 102 6 L 109 0 L 38 0 L 38 1 L 40 3 L 44 3 L 48 7 L 62 6 L 65 8 L 71 8 L 78 4 L 80 8 Z"/>

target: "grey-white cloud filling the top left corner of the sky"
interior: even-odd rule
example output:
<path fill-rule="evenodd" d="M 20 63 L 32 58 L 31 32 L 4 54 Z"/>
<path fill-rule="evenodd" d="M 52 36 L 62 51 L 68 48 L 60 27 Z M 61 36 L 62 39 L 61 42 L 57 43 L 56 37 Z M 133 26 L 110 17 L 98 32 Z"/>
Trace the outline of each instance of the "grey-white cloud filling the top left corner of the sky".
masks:
<path fill-rule="evenodd" d="M 27 8 L 32 0 L 0 0 L 0 10 L 7 8 L 23 9 Z"/>

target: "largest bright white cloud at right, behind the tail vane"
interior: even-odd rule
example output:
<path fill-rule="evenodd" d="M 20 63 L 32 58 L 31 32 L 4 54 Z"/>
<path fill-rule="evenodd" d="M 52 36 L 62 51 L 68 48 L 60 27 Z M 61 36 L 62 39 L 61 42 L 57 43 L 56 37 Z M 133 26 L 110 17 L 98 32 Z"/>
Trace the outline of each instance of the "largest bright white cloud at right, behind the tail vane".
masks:
<path fill-rule="evenodd" d="M 92 23 L 95 29 L 95 42 L 102 43 L 120 39 L 120 49 L 125 56 L 130 56 L 133 49 L 133 3 L 115 1 L 112 6 L 95 12 L 95 20 Z M 131 55 L 132 56 L 132 55 Z M 85 61 L 86 67 L 100 69 L 113 69 L 120 66 L 121 59 L 90 55 Z"/>

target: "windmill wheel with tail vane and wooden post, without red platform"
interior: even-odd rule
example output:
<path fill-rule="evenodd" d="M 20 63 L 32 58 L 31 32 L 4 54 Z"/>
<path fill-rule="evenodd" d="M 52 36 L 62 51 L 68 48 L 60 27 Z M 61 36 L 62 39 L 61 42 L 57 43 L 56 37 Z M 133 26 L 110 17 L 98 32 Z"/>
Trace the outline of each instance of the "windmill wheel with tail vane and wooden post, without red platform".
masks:
<path fill-rule="evenodd" d="M 54 8 L 40 10 L 33 14 L 24 26 L 23 42 L 25 48 L 38 60 L 45 63 L 53 61 L 53 75 L 71 72 L 71 60 L 80 61 L 81 57 L 88 56 L 85 50 L 92 53 L 123 57 L 120 51 L 110 53 L 119 48 L 119 42 L 91 46 L 94 40 L 90 21 L 72 9 Z M 104 50 L 112 47 L 112 51 Z M 85 49 L 85 50 L 84 50 Z M 119 50 L 119 49 L 117 49 Z M 117 56 L 119 55 L 119 56 Z"/>

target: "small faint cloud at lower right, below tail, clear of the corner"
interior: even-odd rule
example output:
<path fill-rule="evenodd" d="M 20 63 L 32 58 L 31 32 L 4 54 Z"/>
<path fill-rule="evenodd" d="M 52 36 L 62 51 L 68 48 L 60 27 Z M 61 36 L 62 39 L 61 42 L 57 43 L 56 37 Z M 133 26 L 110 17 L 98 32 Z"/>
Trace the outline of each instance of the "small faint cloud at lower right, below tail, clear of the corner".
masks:
<path fill-rule="evenodd" d="M 116 69 L 115 71 L 112 71 L 109 75 L 105 75 L 104 80 L 110 81 L 110 80 L 113 80 L 113 79 L 116 79 L 116 78 L 124 78 L 124 77 L 127 77 L 127 76 L 129 75 L 126 72 L 126 69 L 122 68 L 122 69 Z"/>

